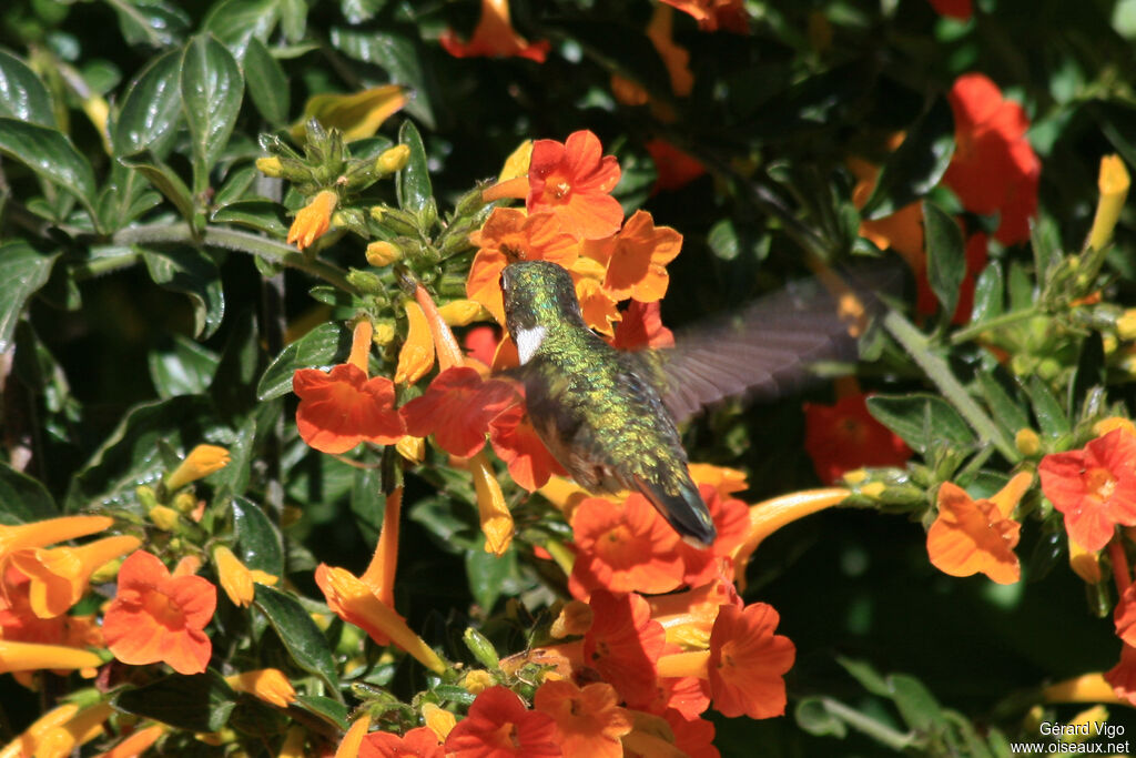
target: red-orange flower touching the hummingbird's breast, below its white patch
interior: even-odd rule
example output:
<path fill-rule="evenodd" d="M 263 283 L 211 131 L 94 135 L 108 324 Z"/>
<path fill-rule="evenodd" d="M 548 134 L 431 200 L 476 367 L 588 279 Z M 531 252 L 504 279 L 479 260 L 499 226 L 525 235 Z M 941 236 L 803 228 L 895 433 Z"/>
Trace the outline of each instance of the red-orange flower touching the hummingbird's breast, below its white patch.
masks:
<path fill-rule="evenodd" d="M 456 366 L 435 376 L 426 392 L 400 413 L 407 432 L 433 434 L 437 447 L 468 458 L 485 444 L 490 422 L 515 402 L 517 392 L 508 382 L 486 382 L 475 369 Z"/>

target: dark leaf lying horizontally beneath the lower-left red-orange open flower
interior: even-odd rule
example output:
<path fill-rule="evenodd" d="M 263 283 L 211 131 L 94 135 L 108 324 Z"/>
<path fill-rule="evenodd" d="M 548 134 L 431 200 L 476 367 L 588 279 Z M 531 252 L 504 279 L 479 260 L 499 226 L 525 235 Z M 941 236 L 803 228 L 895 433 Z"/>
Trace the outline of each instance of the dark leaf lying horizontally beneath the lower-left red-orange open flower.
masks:
<path fill-rule="evenodd" d="M 118 710 L 152 718 L 190 732 L 216 732 L 228 722 L 236 693 L 220 674 L 172 674 L 157 682 L 124 690 L 114 700 Z"/>

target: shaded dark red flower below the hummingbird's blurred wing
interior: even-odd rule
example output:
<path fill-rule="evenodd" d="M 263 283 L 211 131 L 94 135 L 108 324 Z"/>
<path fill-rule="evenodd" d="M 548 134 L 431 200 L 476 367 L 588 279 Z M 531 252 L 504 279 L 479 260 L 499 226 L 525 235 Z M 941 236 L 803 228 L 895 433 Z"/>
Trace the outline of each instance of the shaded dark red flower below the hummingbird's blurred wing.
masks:
<path fill-rule="evenodd" d="M 804 403 L 804 449 L 825 484 L 835 483 L 844 472 L 902 466 L 911 457 L 903 440 L 868 413 L 868 397 L 850 394 L 834 406 Z"/>

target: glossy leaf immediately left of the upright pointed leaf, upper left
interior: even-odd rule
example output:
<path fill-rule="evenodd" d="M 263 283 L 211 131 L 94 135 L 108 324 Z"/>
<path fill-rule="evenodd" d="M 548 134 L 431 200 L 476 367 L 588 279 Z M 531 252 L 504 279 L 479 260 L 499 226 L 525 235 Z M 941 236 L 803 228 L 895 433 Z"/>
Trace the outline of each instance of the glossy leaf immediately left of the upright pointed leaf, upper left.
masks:
<path fill-rule="evenodd" d="M 126 89 L 110 142 L 115 156 L 149 150 L 162 159 L 182 120 L 182 53 L 170 50 L 150 61 Z"/>

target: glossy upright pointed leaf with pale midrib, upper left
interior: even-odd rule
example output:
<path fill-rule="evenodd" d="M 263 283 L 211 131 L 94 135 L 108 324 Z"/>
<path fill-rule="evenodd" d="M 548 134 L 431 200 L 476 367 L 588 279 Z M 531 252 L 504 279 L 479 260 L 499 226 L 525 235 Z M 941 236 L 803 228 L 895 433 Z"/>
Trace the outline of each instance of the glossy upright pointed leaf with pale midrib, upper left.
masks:
<path fill-rule="evenodd" d="M 199 34 L 185 45 L 181 88 L 193 140 L 193 185 L 203 189 L 236 123 L 244 95 L 244 77 L 224 44 L 212 35 Z"/>

